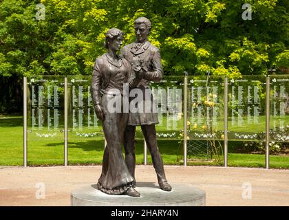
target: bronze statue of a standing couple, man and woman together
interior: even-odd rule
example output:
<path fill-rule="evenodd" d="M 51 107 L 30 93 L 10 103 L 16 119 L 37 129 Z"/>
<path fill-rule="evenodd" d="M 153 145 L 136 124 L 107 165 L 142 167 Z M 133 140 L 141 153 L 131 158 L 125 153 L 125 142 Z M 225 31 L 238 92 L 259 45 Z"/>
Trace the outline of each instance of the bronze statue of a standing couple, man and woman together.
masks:
<path fill-rule="evenodd" d="M 140 17 L 134 21 L 136 41 L 122 46 L 123 32 L 111 28 L 105 34 L 107 53 L 99 56 L 94 63 L 92 72 L 92 96 L 97 117 L 103 122 L 103 131 L 107 146 L 103 155 L 103 170 L 98 179 L 98 189 L 110 195 L 129 195 L 140 197 L 136 191 L 136 156 L 135 142 L 136 126 L 141 126 L 144 139 L 151 153 L 153 167 L 156 170 L 158 184 L 162 190 L 171 191 L 164 174 L 164 165 L 156 140 L 158 113 L 153 111 L 111 112 L 109 102 L 114 99 L 125 103 L 122 96 L 123 85 L 129 89 L 149 89 L 151 81 L 162 79 L 162 64 L 160 50 L 148 41 L 151 30 L 149 19 Z M 116 94 L 116 89 L 120 91 Z M 142 106 L 150 102 L 153 107 L 152 95 L 142 99 Z M 125 159 L 122 156 L 122 144 L 125 146 Z"/>

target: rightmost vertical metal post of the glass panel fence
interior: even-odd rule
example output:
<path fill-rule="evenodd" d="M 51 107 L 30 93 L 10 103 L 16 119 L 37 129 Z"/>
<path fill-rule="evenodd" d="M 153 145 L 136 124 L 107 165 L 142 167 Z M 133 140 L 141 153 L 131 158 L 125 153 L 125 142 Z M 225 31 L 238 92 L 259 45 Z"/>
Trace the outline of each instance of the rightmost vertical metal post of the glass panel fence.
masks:
<path fill-rule="evenodd" d="M 265 157 L 265 168 L 269 168 L 269 157 L 270 157 L 270 76 L 266 77 L 266 157 Z"/>

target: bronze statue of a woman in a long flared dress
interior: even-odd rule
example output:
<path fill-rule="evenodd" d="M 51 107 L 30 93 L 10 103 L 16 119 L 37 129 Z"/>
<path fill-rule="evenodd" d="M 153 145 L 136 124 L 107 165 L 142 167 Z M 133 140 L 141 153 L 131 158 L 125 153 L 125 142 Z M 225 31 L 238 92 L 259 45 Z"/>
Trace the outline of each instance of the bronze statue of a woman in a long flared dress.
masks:
<path fill-rule="evenodd" d="M 123 103 L 123 85 L 129 87 L 137 85 L 137 67 L 120 58 L 116 54 L 122 45 L 123 32 L 111 28 L 105 34 L 107 53 L 99 56 L 92 72 L 92 97 L 97 117 L 103 122 L 103 131 L 107 146 L 103 155 L 103 170 L 98 179 L 98 189 L 111 195 L 129 195 L 140 197 L 140 193 L 133 188 L 135 179 L 129 173 L 122 155 L 125 127 L 129 113 L 111 111 L 109 102 Z M 116 93 L 119 91 L 119 93 Z"/>

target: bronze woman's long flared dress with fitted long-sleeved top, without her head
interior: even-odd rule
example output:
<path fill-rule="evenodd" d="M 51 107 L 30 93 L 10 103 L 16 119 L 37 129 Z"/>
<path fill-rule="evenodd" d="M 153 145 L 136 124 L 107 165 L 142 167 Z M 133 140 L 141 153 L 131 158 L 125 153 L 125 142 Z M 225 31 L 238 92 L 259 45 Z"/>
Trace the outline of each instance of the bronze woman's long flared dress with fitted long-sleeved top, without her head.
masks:
<path fill-rule="evenodd" d="M 120 195 L 133 186 L 135 179 L 130 175 L 122 155 L 122 143 L 129 113 L 123 113 L 123 85 L 131 78 L 131 66 L 122 59 L 120 67 L 114 65 L 104 54 L 96 59 L 92 76 L 94 103 L 100 102 L 105 111 L 103 131 L 107 146 L 103 155 L 103 170 L 98 179 L 98 189 L 112 195 Z M 118 89 L 118 93 L 116 92 Z M 103 96 L 100 98 L 100 93 Z M 111 112 L 121 105 L 121 112 Z M 119 105 L 118 105 L 119 107 Z M 117 107 L 116 107 L 117 109 Z M 119 109 L 118 109 L 119 110 Z"/>

